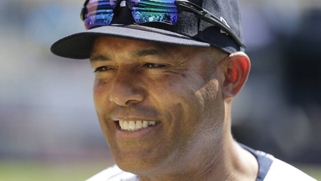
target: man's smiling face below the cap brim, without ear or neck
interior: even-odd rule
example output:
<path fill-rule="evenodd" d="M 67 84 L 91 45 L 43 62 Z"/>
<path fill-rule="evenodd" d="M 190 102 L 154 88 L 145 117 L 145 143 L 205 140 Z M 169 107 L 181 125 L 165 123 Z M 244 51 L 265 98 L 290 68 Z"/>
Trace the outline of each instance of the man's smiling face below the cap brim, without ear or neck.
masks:
<path fill-rule="evenodd" d="M 94 103 L 118 167 L 139 175 L 175 173 L 203 161 L 197 160 L 199 154 L 215 153 L 224 103 L 213 57 L 224 56 L 213 48 L 96 39 Z M 123 121 L 157 123 L 128 131 L 120 128 Z"/>

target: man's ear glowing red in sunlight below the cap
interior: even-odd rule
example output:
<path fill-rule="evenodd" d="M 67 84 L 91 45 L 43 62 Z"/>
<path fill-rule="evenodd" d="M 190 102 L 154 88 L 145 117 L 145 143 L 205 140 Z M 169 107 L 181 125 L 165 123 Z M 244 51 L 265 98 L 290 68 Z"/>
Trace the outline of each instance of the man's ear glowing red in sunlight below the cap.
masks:
<path fill-rule="evenodd" d="M 223 99 L 235 97 L 242 89 L 250 71 L 250 59 L 244 52 L 234 52 L 226 57 L 223 72 Z"/>

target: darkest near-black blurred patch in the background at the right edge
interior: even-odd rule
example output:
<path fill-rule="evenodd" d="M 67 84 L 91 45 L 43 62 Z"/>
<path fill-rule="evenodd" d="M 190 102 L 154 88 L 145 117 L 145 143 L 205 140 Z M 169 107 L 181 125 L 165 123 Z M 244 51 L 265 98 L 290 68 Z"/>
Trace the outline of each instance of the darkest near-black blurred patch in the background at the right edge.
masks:
<path fill-rule="evenodd" d="M 285 41 L 288 99 L 308 108 L 321 103 L 321 11 L 305 14 L 300 31 Z M 320 119 L 319 119 L 320 120 Z"/>

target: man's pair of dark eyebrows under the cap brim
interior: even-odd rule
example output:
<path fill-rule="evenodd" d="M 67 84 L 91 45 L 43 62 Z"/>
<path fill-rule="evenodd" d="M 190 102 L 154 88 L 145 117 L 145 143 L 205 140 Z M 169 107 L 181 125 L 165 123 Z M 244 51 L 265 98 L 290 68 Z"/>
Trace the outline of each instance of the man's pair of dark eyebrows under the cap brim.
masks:
<path fill-rule="evenodd" d="M 143 48 L 134 50 L 129 53 L 129 56 L 136 58 L 136 57 L 144 57 L 144 56 L 157 56 L 163 59 L 173 57 L 173 52 L 169 50 L 165 46 L 158 46 L 155 48 Z M 99 61 L 109 61 L 111 58 L 107 54 L 99 54 L 99 55 L 93 55 L 90 57 L 90 62 L 99 62 Z"/>

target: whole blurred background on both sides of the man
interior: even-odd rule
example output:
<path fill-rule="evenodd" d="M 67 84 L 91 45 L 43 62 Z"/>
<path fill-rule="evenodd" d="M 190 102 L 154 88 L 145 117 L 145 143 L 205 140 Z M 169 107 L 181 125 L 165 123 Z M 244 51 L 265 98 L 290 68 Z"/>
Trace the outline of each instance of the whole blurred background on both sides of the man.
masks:
<path fill-rule="evenodd" d="M 88 60 L 49 48 L 84 30 L 80 0 L 2 0 L 0 180 L 85 180 L 113 164 Z M 248 81 L 235 139 L 321 180 L 321 1 L 240 0 Z"/>

